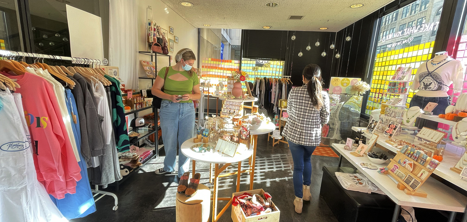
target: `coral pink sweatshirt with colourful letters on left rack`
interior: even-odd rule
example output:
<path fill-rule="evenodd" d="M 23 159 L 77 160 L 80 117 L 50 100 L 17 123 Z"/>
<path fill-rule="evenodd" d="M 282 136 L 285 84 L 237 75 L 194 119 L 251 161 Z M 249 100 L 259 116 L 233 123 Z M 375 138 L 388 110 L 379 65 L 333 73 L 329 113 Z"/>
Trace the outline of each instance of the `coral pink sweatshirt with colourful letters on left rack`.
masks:
<path fill-rule="evenodd" d="M 52 87 L 34 74 L 4 74 L 21 86 L 15 92 L 22 95 L 37 179 L 45 185 L 49 194 L 58 199 L 64 198 L 65 193 L 75 193 L 76 181 L 81 179 L 81 169 Z"/>

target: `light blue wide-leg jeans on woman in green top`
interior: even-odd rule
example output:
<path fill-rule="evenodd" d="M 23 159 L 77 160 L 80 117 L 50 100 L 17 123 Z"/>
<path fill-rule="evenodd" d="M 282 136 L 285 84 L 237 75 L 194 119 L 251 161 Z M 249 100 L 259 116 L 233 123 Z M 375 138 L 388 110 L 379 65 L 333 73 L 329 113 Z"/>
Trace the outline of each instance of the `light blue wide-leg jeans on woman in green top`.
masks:
<path fill-rule="evenodd" d="M 195 108 L 192 102 L 172 102 L 163 100 L 159 112 L 161 119 L 162 139 L 164 141 L 164 170 L 175 172 L 177 164 L 177 143 L 193 137 L 195 129 Z M 190 166 L 189 158 L 178 150 L 178 177 L 181 177 Z"/>

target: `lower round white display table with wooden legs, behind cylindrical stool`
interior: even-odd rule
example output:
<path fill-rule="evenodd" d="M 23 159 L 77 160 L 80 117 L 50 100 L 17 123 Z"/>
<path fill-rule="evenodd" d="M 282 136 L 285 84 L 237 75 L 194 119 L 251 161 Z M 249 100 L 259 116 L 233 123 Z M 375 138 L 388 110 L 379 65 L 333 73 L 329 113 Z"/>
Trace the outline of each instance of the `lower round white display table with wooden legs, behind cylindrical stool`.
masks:
<path fill-rule="evenodd" d="M 182 153 L 191 158 L 193 160 L 193 166 L 192 166 L 192 175 L 195 175 L 196 172 L 196 161 L 200 162 L 206 162 L 206 163 L 213 163 L 214 164 L 214 175 L 211 174 L 212 168 L 210 168 L 210 175 L 209 178 L 212 178 L 213 181 L 213 191 L 212 191 L 212 221 L 217 221 L 222 214 L 226 211 L 228 207 L 232 204 L 232 197 L 221 197 L 219 198 L 217 195 L 217 191 L 219 189 L 219 177 L 223 176 L 228 176 L 228 175 L 237 175 L 237 192 L 240 192 L 240 174 L 241 173 L 251 173 L 251 167 L 248 170 L 241 170 L 241 161 L 248 159 L 255 153 L 254 149 L 248 149 L 240 153 L 235 153 L 235 155 L 228 156 L 228 155 L 220 155 L 218 153 L 212 153 L 212 152 L 205 152 L 205 153 L 198 153 L 193 150 L 191 150 L 191 146 L 198 144 L 193 142 L 193 138 L 184 141 L 184 143 L 180 146 Z M 214 146 L 211 142 L 208 144 L 211 144 Z M 215 146 L 214 146 L 215 147 Z M 240 144 L 239 149 L 245 149 L 246 145 L 245 144 Z M 230 166 L 231 163 L 237 162 L 238 163 L 238 168 L 237 172 L 233 173 L 228 173 L 228 174 L 220 174 L 222 171 L 224 171 L 228 166 Z M 219 166 L 219 164 L 223 164 L 222 166 Z M 217 214 L 217 202 L 218 201 L 229 201 L 227 205 Z"/>

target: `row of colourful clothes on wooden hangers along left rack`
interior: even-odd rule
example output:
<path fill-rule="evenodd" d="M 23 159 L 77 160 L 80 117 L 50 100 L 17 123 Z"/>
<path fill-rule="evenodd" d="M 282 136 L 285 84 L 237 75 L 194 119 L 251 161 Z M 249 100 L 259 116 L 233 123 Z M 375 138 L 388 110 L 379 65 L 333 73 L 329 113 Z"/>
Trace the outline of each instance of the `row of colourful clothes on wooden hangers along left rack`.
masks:
<path fill-rule="evenodd" d="M 13 60 L 0 60 L 0 74 L 0 88 L 22 97 L 36 180 L 67 219 L 96 211 L 88 178 L 121 180 L 117 152 L 129 150 L 120 81 L 99 68 Z"/>

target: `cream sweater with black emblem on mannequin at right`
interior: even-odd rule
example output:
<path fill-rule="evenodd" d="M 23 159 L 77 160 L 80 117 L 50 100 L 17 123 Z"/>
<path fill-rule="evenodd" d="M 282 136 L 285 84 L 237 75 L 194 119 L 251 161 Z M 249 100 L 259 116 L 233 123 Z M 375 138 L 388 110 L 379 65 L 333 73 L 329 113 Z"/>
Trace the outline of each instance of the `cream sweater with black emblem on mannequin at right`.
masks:
<path fill-rule="evenodd" d="M 433 66 L 430 61 L 424 62 L 417 68 L 410 89 L 418 89 L 417 95 L 419 96 L 440 97 L 446 96 L 449 86 L 453 84 L 454 93 L 458 93 L 463 88 L 463 70 L 464 67 L 458 60 L 447 60 L 436 66 Z"/>

